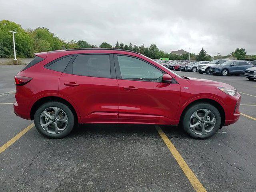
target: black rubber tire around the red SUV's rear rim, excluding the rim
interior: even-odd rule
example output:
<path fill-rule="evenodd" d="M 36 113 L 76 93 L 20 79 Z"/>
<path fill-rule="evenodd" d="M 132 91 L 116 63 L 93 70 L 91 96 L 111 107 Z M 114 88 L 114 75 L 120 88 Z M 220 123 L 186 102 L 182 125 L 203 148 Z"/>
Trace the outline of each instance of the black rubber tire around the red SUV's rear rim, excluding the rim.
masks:
<path fill-rule="evenodd" d="M 56 134 L 52 134 L 52 133 L 48 133 L 46 130 L 44 130 L 40 124 L 40 115 L 42 114 L 42 112 L 44 110 L 46 110 L 47 108 L 50 107 L 58 107 L 61 110 L 63 110 L 67 117 L 68 117 L 68 123 L 66 128 L 60 132 L 60 133 L 56 133 Z M 73 129 L 74 124 L 75 124 L 75 120 L 74 120 L 74 114 L 72 113 L 72 111 L 70 110 L 70 108 L 68 106 L 66 106 L 65 104 L 61 103 L 61 102 L 47 102 L 42 104 L 35 112 L 34 114 L 34 123 L 35 123 L 35 127 L 38 130 L 38 132 L 40 132 L 40 134 L 42 134 L 43 136 L 50 138 L 50 139 L 60 139 L 63 138 L 65 136 L 67 136 Z"/>

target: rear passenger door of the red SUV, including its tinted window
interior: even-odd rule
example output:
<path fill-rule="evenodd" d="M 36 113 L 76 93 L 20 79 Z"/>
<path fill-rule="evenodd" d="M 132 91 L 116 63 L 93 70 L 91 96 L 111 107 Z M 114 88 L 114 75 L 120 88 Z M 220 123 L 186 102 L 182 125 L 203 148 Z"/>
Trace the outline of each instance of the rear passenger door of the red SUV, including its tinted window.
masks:
<path fill-rule="evenodd" d="M 77 106 L 82 123 L 117 123 L 119 88 L 113 54 L 74 55 L 59 80 L 59 93 Z"/>

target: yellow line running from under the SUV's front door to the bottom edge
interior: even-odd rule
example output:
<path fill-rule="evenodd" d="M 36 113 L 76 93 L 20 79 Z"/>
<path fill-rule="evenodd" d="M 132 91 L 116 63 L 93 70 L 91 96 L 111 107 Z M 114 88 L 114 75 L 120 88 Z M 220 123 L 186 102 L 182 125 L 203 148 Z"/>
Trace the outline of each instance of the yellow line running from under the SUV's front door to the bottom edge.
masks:
<path fill-rule="evenodd" d="M 175 148 L 175 146 L 172 144 L 172 142 L 169 140 L 169 138 L 166 136 L 166 134 L 163 132 L 163 130 L 160 128 L 160 126 L 156 126 L 156 130 L 158 131 L 159 135 L 161 136 L 162 140 L 164 140 L 164 143 L 178 162 L 180 168 L 196 190 L 196 192 L 206 192 L 206 189 L 204 186 L 200 183 L 198 178 L 195 176 L 195 174 L 192 172 L 192 170 L 189 168 L 188 164 L 184 161 L 178 150 Z"/>

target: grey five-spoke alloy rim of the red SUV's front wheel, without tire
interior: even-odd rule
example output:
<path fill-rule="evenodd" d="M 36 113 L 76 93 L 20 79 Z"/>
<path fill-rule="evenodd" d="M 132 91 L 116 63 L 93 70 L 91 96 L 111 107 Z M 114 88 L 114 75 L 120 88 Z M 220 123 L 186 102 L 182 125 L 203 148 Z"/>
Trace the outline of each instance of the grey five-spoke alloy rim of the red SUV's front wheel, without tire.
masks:
<path fill-rule="evenodd" d="M 190 129 L 198 135 L 206 135 L 210 133 L 216 124 L 216 118 L 212 111 L 208 109 L 200 109 L 190 117 Z"/>

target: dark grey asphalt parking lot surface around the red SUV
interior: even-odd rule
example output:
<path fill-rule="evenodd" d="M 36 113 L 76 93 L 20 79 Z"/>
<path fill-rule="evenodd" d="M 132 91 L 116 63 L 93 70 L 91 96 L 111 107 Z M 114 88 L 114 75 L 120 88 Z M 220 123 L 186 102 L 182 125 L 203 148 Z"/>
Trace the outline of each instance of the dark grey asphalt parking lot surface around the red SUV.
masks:
<path fill-rule="evenodd" d="M 0 146 L 32 124 L 12 108 L 13 77 L 22 68 L 0 66 Z M 164 134 L 206 191 L 256 191 L 256 81 L 177 73 L 234 86 L 247 116 L 208 140 L 194 140 L 173 126 L 161 126 Z M 0 190 L 195 191 L 179 163 L 151 125 L 86 125 L 60 140 L 32 127 L 0 151 Z"/>

